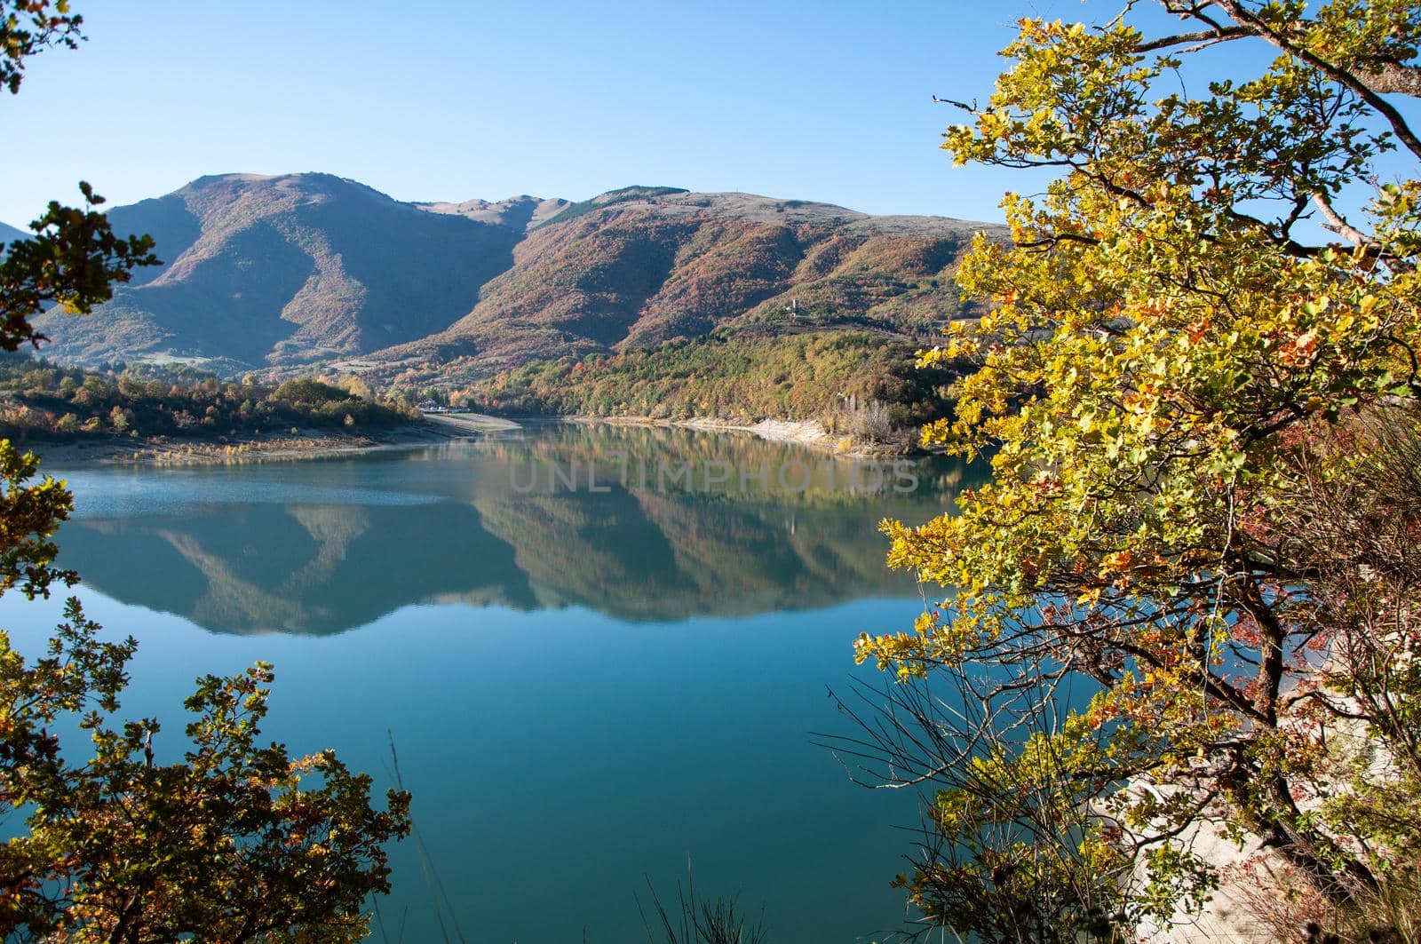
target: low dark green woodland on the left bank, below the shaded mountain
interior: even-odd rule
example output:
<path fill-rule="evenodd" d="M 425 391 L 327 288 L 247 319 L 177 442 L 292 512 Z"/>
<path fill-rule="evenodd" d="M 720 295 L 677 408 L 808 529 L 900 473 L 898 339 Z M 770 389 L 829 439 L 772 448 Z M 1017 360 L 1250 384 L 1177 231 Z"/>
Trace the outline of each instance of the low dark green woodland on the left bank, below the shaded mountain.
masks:
<path fill-rule="evenodd" d="M 418 418 L 369 398 L 358 381 L 225 381 L 188 368 L 115 365 L 90 371 L 23 354 L 0 357 L 0 436 L 222 439 L 293 429 L 369 431 Z"/>

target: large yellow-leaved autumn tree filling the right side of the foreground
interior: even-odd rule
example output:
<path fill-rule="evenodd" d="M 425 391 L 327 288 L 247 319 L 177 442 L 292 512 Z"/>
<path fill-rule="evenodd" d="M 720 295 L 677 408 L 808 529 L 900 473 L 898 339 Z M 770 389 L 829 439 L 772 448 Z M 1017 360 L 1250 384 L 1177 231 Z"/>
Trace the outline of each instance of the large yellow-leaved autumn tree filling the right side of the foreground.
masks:
<path fill-rule="evenodd" d="M 983 940 L 1027 940 L 990 916 L 1036 907 L 1047 937 L 1130 935 L 1208 894 L 1212 822 L 1333 917 L 1414 906 L 1421 827 L 1384 810 L 1421 802 L 1421 4 L 1125 7 L 1022 21 L 990 100 L 952 102 L 958 163 L 1059 176 L 1005 198 L 1010 245 L 961 273 L 989 313 L 921 354 L 973 363 L 922 439 L 992 482 L 885 523 L 948 590 L 857 651 L 978 707 L 871 741 L 917 752 L 890 781 L 934 788 L 949 852 L 990 854 L 904 883 Z M 1184 27 L 1137 26 L 1161 10 Z M 1221 47 L 1266 65 L 1221 75 Z"/>

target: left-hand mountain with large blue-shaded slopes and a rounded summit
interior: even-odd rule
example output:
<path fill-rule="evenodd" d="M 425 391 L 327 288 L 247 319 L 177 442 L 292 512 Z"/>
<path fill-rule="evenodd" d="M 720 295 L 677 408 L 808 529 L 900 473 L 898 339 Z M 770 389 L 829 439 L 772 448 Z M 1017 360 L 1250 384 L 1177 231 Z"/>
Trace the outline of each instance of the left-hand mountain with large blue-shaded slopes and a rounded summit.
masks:
<path fill-rule="evenodd" d="M 44 316 L 53 357 L 240 370 L 372 351 L 468 313 L 523 236 L 325 173 L 206 176 L 109 220 L 152 235 L 165 264 L 135 272 L 92 317 Z"/>

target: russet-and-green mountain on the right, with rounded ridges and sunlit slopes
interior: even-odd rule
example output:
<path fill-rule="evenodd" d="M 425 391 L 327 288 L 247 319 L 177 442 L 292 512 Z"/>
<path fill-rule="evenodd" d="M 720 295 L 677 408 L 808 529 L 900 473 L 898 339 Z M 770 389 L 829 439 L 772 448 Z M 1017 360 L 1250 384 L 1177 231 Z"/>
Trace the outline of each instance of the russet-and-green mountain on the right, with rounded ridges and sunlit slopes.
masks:
<path fill-rule="evenodd" d="M 533 220 L 513 266 L 483 287 L 468 316 L 371 360 L 416 372 L 456 360 L 462 372 L 480 375 L 713 328 L 928 334 L 962 314 L 952 274 L 983 229 L 993 227 L 627 188 Z"/>

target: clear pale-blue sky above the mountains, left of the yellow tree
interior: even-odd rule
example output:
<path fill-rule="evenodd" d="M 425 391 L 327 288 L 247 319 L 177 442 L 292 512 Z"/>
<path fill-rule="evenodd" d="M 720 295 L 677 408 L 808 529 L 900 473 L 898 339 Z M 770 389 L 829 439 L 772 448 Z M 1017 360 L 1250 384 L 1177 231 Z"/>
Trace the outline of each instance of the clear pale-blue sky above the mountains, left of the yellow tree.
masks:
<path fill-rule="evenodd" d="M 90 40 L 0 95 L 0 220 L 87 179 L 111 203 L 205 173 L 324 171 L 406 200 L 631 183 L 1000 219 L 1020 175 L 955 169 L 1023 14 L 1080 0 L 74 0 Z M 1118 3 L 1110 4 L 1110 11 Z"/>

